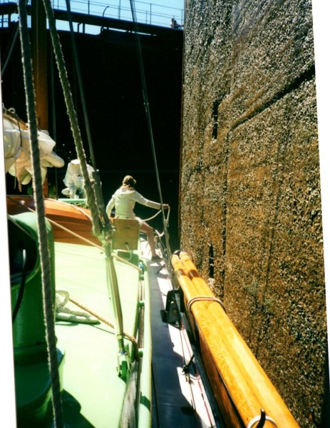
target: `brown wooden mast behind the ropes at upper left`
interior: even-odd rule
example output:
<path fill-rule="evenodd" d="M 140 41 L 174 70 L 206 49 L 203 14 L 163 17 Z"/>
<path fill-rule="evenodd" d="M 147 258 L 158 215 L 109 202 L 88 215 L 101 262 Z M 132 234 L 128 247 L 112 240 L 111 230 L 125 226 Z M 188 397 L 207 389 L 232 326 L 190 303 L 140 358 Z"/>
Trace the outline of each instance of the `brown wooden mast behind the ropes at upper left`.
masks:
<path fill-rule="evenodd" d="M 42 0 L 31 0 L 31 45 L 36 118 L 38 128 L 48 130 L 47 29 Z M 43 184 L 43 196 L 48 196 L 47 177 Z"/>

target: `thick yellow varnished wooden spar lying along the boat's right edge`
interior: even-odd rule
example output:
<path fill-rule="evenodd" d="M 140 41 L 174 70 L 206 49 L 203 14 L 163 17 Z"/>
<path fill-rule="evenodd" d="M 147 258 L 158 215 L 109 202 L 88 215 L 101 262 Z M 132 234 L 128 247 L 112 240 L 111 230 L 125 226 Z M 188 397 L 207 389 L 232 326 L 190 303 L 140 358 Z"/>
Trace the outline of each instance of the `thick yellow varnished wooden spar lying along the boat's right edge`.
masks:
<path fill-rule="evenodd" d="M 263 409 L 264 427 L 299 427 L 190 255 L 175 254 L 171 261 L 226 426 L 256 427 Z"/>

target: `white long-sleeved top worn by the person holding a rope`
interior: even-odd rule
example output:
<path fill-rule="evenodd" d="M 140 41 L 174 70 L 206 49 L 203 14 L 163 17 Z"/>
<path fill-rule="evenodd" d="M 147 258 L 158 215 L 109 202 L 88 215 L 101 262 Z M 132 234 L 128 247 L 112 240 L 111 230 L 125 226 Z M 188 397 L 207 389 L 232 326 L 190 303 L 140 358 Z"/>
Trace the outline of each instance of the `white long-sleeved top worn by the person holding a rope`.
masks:
<path fill-rule="evenodd" d="M 115 207 L 116 218 L 136 218 L 134 206 L 137 202 L 147 207 L 155 208 L 156 210 L 160 210 L 161 208 L 160 203 L 144 198 L 143 195 L 140 195 L 136 190 L 119 188 L 109 200 L 106 212 L 110 217 L 111 210 Z"/>

